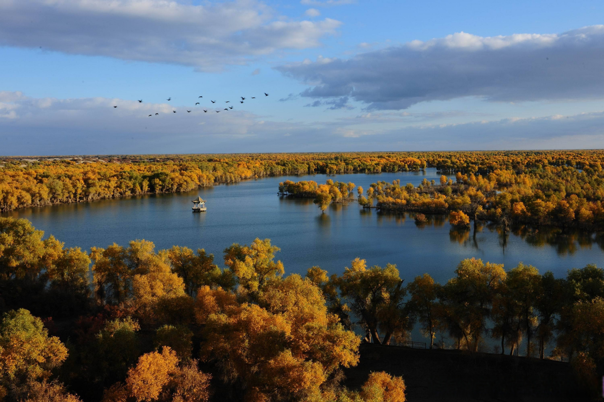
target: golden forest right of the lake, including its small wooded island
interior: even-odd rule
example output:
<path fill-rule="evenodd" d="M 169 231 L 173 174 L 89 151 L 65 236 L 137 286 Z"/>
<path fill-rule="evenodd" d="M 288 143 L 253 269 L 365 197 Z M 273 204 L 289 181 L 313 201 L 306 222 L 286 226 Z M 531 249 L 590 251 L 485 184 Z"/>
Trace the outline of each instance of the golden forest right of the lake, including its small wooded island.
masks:
<path fill-rule="evenodd" d="M 530 158 L 524 155 L 519 159 L 519 152 L 451 152 L 449 159 L 447 154 L 432 152 L 434 155 L 424 159 L 426 166 L 436 167 L 441 173 L 455 173 L 455 181 L 444 174 L 439 183 L 424 179 L 417 187 L 412 183 L 402 185 L 400 180 L 376 181 L 366 192 L 358 187 L 358 201 L 365 208 L 381 211 L 448 213 L 459 227 L 473 219 L 475 225 L 478 221 L 496 222 L 506 230 L 509 224 L 604 228 L 604 172 L 599 152 L 577 152 L 577 159 L 569 155 L 562 159 L 557 151 L 525 153 Z M 490 154 L 492 160 L 487 159 Z M 556 155 L 559 159 L 554 158 Z M 587 162 L 579 155 L 591 155 L 593 160 Z M 338 186 L 333 187 L 333 180 L 321 185 L 286 180 L 280 183 L 279 193 L 315 198 L 325 210 L 332 199 L 341 202 L 352 195 L 353 188 L 344 197 L 335 193 L 341 191 Z"/>

